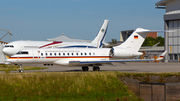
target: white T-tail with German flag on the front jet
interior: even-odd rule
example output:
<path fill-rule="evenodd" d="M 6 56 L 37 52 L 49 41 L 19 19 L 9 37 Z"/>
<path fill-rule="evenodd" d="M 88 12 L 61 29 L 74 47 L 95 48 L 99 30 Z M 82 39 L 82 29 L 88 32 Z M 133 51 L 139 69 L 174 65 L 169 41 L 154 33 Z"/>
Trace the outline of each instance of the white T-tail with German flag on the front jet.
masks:
<path fill-rule="evenodd" d="M 129 38 L 117 48 L 125 48 L 129 50 L 133 50 L 138 52 L 140 47 L 142 46 L 146 36 L 151 32 L 165 32 L 165 31 L 158 31 L 158 30 L 148 30 L 143 28 L 137 28 Z M 114 47 L 114 48 L 116 48 Z"/>

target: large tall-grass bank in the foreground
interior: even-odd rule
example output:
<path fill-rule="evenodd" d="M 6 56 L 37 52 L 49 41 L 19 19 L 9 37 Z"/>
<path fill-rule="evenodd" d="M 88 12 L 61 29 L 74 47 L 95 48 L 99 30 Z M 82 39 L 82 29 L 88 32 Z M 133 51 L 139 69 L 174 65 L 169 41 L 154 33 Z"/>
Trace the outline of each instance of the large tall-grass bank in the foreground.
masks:
<path fill-rule="evenodd" d="M 118 72 L 0 74 L 0 100 L 141 101 Z"/>

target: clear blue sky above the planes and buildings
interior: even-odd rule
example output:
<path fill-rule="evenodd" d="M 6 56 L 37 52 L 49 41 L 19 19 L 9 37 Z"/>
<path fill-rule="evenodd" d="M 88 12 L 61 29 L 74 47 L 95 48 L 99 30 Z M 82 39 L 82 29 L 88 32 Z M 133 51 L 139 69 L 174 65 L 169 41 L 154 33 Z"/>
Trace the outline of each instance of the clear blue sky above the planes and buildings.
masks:
<path fill-rule="evenodd" d="M 136 28 L 164 30 L 160 0 L 0 0 L 0 29 L 10 30 L 11 41 L 39 40 L 64 35 L 93 40 L 105 19 L 106 42 Z M 0 30 L 0 38 L 7 32 Z M 158 33 L 164 36 L 164 33 Z M 9 36 L 1 41 L 9 42 Z"/>

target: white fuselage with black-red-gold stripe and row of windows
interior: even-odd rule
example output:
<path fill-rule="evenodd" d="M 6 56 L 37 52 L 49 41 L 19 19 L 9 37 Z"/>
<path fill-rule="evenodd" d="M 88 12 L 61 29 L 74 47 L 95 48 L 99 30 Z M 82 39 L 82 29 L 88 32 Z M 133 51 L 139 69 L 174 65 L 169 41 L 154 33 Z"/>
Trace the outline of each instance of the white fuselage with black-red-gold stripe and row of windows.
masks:
<path fill-rule="evenodd" d="M 75 66 L 73 61 L 107 61 L 111 58 L 132 58 L 142 55 L 141 52 L 131 52 L 121 49 L 116 53 L 111 48 L 60 48 L 60 49 L 26 49 L 11 56 L 7 61 L 14 64 L 56 64 Z M 94 63 L 86 64 L 97 65 Z M 78 64 L 78 66 L 81 66 Z"/>

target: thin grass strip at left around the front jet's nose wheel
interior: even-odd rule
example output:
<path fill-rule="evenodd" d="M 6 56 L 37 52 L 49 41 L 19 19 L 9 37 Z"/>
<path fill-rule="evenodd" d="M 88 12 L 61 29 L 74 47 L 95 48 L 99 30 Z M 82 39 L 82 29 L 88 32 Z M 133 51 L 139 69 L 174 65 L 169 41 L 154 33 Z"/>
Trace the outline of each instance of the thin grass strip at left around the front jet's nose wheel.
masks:
<path fill-rule="evenodd" d="M 34 67 L 34 66 L 23 66 L 24 70 L 41 70 L 41 69 L 48 69 L 47 67 Z M 8 73 L 8 71 L 18 71 L 19 66 L 18 65 L 5 65 L 0 64 L 0 71 L 5 71 Z"/>

